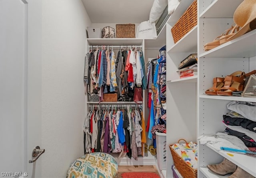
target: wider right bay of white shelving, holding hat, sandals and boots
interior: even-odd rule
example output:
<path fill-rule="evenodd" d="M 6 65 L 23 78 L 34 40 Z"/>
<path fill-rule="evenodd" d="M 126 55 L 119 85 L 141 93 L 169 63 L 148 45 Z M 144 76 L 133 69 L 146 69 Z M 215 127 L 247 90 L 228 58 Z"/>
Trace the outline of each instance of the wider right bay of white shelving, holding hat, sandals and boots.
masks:
<path fill-rule="evenodd" d="M 239 96 L 209 96 L 205 91 L 212 86 L 214 77 L 225 77 L 235 71 L 250 72 L 256 68 L 256 30 L 248 32 L 212 50 L 204 51 L 204 44 L 211 42 L 230 28 L 233 14 L 243 0 L 198 0 L 198 136 L 216 134 L 225 129 L 223 115 L 229 112 L 226 105 L 231 101 L 256 102 L 256 98 Z M 216 13 L 218 12 L 218 13 Z M 216 150 L 210 144 L 200 144 L 198 140 L 198 177 L 222 178 L 206 167 L 218 164 L 227 158 L 246 172 L 256 176 L 256 158 L 244 154 Z M 231 152 L 230 152 L 231 153 Z"/>

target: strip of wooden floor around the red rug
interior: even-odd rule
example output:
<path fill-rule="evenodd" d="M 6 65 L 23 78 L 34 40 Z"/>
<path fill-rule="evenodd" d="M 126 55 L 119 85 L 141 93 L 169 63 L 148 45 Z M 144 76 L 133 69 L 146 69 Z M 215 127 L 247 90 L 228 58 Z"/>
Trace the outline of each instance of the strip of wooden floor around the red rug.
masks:
<path fill-rule="evenodd" d="M 118 166 L 117 178 L 122 178 L 121 174 L 124 172 L 156 172 L 158 171 L 154 165 L 152 166 Z"/>

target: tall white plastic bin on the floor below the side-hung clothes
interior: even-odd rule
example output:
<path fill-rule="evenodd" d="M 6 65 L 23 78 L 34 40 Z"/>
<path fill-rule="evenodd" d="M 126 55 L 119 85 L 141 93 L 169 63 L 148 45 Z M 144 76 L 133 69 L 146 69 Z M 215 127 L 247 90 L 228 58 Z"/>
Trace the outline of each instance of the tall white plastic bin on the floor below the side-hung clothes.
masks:
<path fill-rule="evenodd" d="M 166 134 L 156 132 L 156 158 L 159 170 L 166 170 Z"/>

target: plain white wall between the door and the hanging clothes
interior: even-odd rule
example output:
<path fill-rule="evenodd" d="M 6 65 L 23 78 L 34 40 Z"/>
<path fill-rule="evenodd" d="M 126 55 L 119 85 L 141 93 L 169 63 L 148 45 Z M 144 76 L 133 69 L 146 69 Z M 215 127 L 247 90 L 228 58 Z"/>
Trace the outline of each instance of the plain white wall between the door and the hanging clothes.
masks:
<path fill-rule="evenodd" d="M 84 57 L 91 22 L 80 0 L 42 1 L 42 177 L 66 177 L 84 153 Z"/>

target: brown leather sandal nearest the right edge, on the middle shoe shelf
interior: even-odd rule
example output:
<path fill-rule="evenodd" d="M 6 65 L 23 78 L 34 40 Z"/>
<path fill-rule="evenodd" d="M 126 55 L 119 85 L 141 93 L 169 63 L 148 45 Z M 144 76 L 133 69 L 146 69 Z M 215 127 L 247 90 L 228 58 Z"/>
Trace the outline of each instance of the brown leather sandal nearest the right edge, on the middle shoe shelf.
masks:
<path fill-rule="evenodd" d="M 245 74 L 242 71 L 236 71 L 224 79 L 224 86 L 217 91 L 217 95 L 232 96 L 232 92 L 243 91 L 245 78 L 256 74 L 256 70 Z"/>

